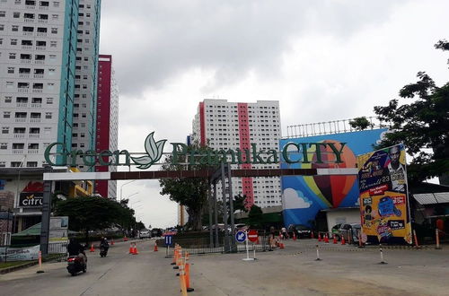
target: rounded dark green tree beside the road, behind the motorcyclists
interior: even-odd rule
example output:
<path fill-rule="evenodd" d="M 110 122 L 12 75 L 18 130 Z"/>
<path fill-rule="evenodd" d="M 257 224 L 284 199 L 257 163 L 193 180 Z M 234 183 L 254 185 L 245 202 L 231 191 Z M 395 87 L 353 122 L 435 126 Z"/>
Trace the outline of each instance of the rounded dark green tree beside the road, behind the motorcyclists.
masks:
<path fill-rule="evenodd" d="M 119 203 L 103 197 L 79 196 L 59 201 L 57 215 L 68 216 L 71 231 L 84 231 L 86 243 L 89 231 L 103 230 L 115 222 L 120 222 L 130 213 Z"/>

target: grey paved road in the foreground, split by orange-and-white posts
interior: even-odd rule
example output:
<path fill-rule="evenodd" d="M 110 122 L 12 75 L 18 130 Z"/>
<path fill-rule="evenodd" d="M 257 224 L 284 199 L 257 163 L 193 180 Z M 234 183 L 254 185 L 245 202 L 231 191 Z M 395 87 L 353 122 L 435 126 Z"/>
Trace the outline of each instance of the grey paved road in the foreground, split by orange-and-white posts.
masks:
<path fill-rule="evenodd" d="M 449 249 L 359 249 L 286 241 L 285 249 L 245 254 L 191 256 L 190 295 L 449 295 Z M 139 242 L 139 254 L 128 255 L 128 243 L 110 248 L 108 257 L 88 253 L 86 274 L 75 277 L 65 263 L 44 265 L 0 276 L 2 295 L 180 295 L 179 278 L 165 252 L 153 252 L 154 241 Z M 252 254 L 251 254 L 252 255 Z"/>

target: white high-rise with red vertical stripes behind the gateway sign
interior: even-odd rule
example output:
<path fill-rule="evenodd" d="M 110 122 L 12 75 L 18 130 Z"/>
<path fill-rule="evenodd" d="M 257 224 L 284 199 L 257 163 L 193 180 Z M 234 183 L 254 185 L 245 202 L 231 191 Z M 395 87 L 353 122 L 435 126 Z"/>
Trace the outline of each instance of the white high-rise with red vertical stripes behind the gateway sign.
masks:
<path fill-rule="evenodd" d="M 256 144 L 260 150 L 279 151 L 280 137 L 277 100 L 240 103 L 207 99 L 199 103 L 191 141 L 214 149 L 249 149 Z M 279 165 L 246 163 L 232 168 L 279 169 Z M 282 205 L 279 177 L 233 178 L 233 195 L 238 194 L 247 196 L 247 207 Z"/>

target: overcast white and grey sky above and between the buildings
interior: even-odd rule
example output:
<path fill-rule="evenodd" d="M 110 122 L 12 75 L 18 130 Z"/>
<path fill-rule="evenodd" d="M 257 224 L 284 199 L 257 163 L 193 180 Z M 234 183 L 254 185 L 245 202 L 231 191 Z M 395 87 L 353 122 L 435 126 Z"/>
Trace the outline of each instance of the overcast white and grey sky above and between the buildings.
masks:
<path fill-rule="evenodd" d="M 279 100 L 281 126 L 372 116 L 427 71 L 448 81 L 448 1 L 102 1 L 101 54 L 119 84 L 119 148 L 184 142 L 198 102 Z M 176 224 L 156 180 L 118 192 L 153 227 Z M 123 187 L 122 187 L 123 186 Z M 121 189 L 121 190 L 120 190 Z"/>

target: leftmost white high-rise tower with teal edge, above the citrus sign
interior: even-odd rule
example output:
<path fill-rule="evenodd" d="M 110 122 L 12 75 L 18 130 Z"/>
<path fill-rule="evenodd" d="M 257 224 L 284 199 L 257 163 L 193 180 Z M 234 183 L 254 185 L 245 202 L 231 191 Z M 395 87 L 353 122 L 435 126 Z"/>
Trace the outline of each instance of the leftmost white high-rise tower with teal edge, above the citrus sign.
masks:
<path fill-rule="evenodd" d="M 72 144 L 78 1 L 0 1 L 0 167 Z"/>

